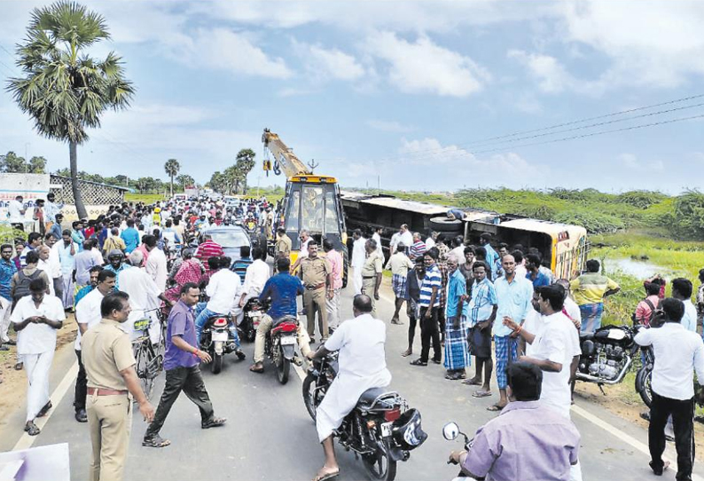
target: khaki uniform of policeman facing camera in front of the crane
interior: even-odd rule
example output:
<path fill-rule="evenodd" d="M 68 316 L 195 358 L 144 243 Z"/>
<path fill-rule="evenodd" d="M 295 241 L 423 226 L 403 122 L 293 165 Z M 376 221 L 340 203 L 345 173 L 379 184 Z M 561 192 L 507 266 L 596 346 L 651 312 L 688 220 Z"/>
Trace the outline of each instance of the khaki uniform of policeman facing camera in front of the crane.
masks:
<path fill-rule="evenodd" d="M 303 286 L 303 305 L 308 318 L 308 334 L 313 337 L 316 333 L 316 308 L 318 311 L 318 328 L 322 339 L 327 339 L 327 309 L 325 308 L 325 282 L 328 274 L 332 272 L 330 264 L 323 257 L 303 257 L 301 259 L 301 274 Z"/>

